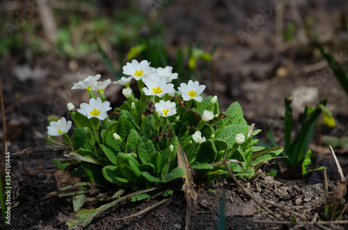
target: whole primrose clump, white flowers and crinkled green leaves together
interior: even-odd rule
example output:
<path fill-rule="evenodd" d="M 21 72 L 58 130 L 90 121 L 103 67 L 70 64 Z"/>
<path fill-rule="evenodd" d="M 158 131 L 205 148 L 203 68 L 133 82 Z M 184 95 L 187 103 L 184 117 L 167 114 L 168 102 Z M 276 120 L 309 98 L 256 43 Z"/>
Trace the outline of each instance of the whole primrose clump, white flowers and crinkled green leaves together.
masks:
<path fill-rule="evenodd" d="M 198 81 L 175 88 L 173 81 L 180 76 L 173 67 L 132 60 L 122 71 L 125 76 L 118 81 L 100 81 L 97 74 L 72 86 L 86 90 L 90 99 L 79 108 L 68 104 L 72 135 L 72 122 L 65 117 L 47 127 L 49 136 L 62 135 L 72 149 L 65 154 L 68 159 L 55 159 L 59 168 L 72 165 L 90 181 L 141 190 L 180 179 L 189 167 L 202 170 L 200 179 L 207 182 L 219 179 L 228 175 L 221 163 L 226 159 L 236 176 L 250 179 L 255 168 L 280 154 L 281 149 L 271 149 L 254 157 L 254 151 L 264 148 L 253 146 L 258 131 L 249 131 L 239 104 L 221 112 L 217 97 L 203 97 L 205 85 Z M 119 108 L 111 108 L 104 95 L 111 83 L 123 85 L 125 101 Z M 182 167 L 183 158 L 187 167 Z"/>

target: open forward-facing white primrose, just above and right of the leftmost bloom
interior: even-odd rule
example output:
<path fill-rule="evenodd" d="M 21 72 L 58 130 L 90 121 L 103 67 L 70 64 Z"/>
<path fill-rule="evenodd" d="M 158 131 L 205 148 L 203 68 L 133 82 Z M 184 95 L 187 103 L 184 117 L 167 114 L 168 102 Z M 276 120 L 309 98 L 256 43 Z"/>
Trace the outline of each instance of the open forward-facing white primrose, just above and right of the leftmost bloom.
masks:
<path fill-rule="evenodd" d="M 107 117 L 106 111 L 111 110 L 110 102 L 102 102 L 102 99 L 100 99 L 100 97 L 97 97 L 97 99 L 89 99 L 89 104 L 82 103 L 80 105 L 80 108 L 81 109 L 78 110 L 79 113 L 87 116 L 88 119 L 90 119 L 91 117 L 97 117 L 99 120 L 104 120 Z"/>

